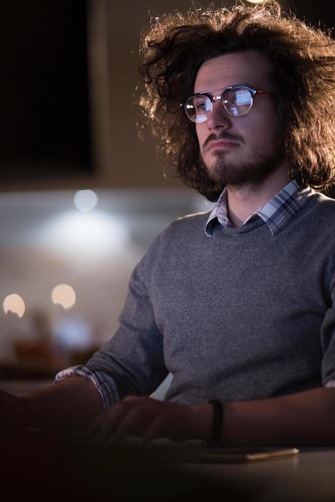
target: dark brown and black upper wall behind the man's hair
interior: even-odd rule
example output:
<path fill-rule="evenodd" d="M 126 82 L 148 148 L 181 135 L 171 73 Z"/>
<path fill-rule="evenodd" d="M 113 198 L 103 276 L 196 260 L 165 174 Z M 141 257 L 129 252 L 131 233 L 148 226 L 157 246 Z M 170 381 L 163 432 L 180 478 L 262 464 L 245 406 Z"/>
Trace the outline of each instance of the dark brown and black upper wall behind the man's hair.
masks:
<path fill-rule="evenodd" d="M 152 140 L 138 140 L 135 89 L 139 36 L 150 16 L 190 5 L 189 0 L 5 3 L 0 190 L 88 183 L 180 186 L 157 159 Z M 333 1 L 282 0 L 281 5 L 313 25 L 335 24 Z"/>

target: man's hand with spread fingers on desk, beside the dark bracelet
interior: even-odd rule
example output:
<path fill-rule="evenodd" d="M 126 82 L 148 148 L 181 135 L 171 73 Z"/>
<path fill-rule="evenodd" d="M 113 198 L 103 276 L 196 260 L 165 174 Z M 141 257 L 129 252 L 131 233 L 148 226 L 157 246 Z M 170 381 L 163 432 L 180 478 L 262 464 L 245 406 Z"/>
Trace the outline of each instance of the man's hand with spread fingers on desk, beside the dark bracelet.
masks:
<path fill-rule="evenodd" d="M 102 413 L 88 431 L 89 437 L 121 441 L 126 435 L 150 443 L 158 437 L 172 441 L 207 440 L 211 434 L 211 405 L 181 405 L 148 397 L 127 396 Z"/>

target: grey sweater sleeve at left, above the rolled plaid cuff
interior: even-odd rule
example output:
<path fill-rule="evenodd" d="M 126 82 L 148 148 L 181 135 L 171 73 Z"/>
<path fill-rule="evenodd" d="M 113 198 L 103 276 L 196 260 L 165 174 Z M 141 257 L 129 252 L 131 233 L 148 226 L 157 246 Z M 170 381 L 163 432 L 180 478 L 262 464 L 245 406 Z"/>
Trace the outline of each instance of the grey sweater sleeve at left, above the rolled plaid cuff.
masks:
<path fill-rule="evenodd" d="M 87 363 L 113 378 L 120 398 L 150 395 L 168 375 L 163 334 L 156 325 L 148 291 L 153 253 L 149 250 L 133 271 L 118 330 Z"/>

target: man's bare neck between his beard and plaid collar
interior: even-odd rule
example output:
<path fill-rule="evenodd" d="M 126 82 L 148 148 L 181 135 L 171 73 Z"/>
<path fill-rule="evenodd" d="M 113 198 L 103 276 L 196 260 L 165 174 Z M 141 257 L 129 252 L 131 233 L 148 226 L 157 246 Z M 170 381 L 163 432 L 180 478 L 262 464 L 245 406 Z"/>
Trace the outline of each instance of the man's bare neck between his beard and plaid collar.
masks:
<path fill-rule="evenodd" d="M 227 185 L 229 221 L 236 227 L 242 226 L 250 215 L 278 194 L 289 181 L 288 169 L 278 169 L 259 186 Z"/>

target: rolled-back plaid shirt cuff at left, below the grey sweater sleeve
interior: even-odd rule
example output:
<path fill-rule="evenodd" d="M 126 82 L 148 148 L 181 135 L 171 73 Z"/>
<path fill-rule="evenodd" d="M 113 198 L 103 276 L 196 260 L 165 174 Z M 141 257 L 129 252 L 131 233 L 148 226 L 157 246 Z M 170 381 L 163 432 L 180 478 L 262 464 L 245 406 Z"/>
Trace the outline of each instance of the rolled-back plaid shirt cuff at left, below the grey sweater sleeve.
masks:
<path fill-rule="evenodd" d="M 55 384 L 58 384 L 70 376 L 83 376 L 84 378 L 88 378 L 101 395 L 105 410 L 108 410 L 113 404 L 120 401 L 119 392 L 114 379 L 106 373 L 103 373 L 103 371 L 98 371 L 92 368 L 92 366 L 73 366 L 72 368 L 59 371 L 55 376 Z"/>

